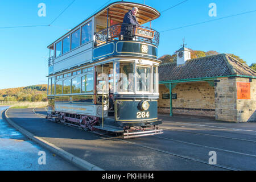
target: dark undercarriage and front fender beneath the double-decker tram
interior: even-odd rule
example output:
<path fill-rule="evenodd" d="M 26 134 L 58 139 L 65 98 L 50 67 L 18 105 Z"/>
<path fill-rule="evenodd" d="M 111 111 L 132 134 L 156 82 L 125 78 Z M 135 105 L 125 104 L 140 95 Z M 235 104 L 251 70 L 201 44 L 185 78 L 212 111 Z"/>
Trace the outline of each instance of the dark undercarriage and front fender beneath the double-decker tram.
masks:
<path fill-rule="evenodd" d="M 106 131 L 108 134 L 115 134 L 118 136 L 123 136 L 124 139 L 146 137 L 150 135 L 163 134 L 163 130 L 158 128 L 158 125 L 154 123 L 147 123 L 144 126 L 113 126 L 108 121 L 108 119 L 102 123 L 102 118 L 98 118 L 92 115 L 79 115 L 79 114 L 69 114 L 69 113 L 56 113 L 48 114 L 46 119 L 51 121 L 67 124 L 69 126 L 80 127 L 85 131 Z M 156 122 L 158 123 L 158 121 Z M 97 133 L 97 132 L 96 132 Z"/>

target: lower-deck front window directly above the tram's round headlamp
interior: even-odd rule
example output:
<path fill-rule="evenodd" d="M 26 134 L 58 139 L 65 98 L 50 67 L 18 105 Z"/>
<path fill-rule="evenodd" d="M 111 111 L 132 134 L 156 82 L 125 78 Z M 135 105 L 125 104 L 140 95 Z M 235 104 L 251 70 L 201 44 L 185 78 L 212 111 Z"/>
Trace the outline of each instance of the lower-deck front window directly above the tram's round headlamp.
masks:
<path fill-rule="evenodd" d="M 137 65 L 137 91 L 150 92 L 151 67 Z"/>

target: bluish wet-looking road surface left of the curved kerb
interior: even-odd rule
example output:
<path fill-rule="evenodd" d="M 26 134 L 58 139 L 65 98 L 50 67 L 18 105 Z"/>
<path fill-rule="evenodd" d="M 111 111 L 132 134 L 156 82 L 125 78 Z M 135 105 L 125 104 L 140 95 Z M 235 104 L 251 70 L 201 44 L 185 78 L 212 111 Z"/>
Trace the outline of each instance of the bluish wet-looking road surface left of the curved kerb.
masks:
<path fill-rule="evenodd" d="M 0 107 L 2 109 L 7 107 Z M 43 153 L 44 152 L 44 153 Z M 45 160 L 42 158 L 45 156 Z M 79 168 L 28 140 L 0 114 L 0 171 L 77 171 Z"/>

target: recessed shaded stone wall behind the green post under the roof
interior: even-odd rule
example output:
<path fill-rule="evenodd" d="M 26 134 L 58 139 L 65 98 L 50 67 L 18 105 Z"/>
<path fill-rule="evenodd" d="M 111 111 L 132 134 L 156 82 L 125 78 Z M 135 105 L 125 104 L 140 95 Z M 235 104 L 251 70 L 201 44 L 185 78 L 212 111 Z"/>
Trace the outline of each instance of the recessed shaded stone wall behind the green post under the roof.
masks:
<path fill-rule="evenodd" d="M 172 113 L 203 115 L 214 117 L 214 87 L 208 82 L 188 82 L 177 84 L 172 93 L 177 94 L 177 99 L 172 100 Z M 159 85 L 159 113 L 170 113 L 170 99 L 162 99 L 163 94 L 169 94 L 169 89 Z"/>

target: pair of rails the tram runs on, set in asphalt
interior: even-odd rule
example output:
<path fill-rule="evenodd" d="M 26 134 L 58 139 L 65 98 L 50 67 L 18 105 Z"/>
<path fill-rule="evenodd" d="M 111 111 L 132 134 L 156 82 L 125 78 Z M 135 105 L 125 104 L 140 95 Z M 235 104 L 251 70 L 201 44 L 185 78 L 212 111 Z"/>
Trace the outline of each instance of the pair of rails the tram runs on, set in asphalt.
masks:
<path fill-rule="evenodd" d="M 45 118 L 45 115 L 36 113 L 35 109 L 36 109 L 36 108 L 33 109 L 33 113 L 34 113 L 34 114 L 38 115 L 39 117 L 43 117 L 43 116 L 44 116 L 43 118 Z M 67 124 L 67 125 L 68 125 L 68 124 Z M 69 125 L 68 125 L 68 126 L 69 126 Z M 75 126 L 71 126 L 71 127 L 75 127 Z M 75 128 L 76 128 L 76 129 L 79 129 L 79 127 L 75 127 Z M 82 130 L 82 129 L 81 129 L 81 130 Z M 124 143 L 129 143 L 129 144 L 133 144 L 133 145 L 135 145 L 135 146 L 147 148 L 147 149 L 149 149 L 149 150 L 161 152 L 161 153 L 163 153 L 163 154 L 168 154 L 168 155 L 172 155 L 172 156 L 177 156 L 177 157 L 179 157 L 179 158 L 192 160 L 192 161 L 195 161 L 195 162 L 208 164 L 208 165 L 210 165 L 210 166 L 219 167 L 219 168 L 227 169 L 227 170 L 231 170 L 231 171 L 242 171 L 242 169 L 233 168 L 233 167 L 229 167 L 229 166 L 224 166 L 224 165 L 221 165 L 221 164 L 209 164 L 209 162 L 204 161 L 204 160 L 201 160 L 201 159 L 193 158 L 193 157 L 191 157 L 191 156 L 185 156 L 185 155 L 181 155 L 181 154 L 176 154 L 175 152 L 162 150 L 162 149 L 160 149 L 160 148 L 150 147 L 150 146 L 147 146 L 146 144 L 139 144 L 139 143 L 136 143 L 136 142 L 132 142 L 132 141 L 130 141 L 130 140 L 127 140 L 127 139 L 125 140 L 125 139 L 123 139 L 123 138 L 121 138 L 121 137 L 111 137 L 111 136 L 106 135 L 106 134 L 103 134 L 103 133 L 98 133 L 97 131 L 87 131 L 87 132 L 93 133 L 93 134 L 97 134 L 97 135 L 101 135 L 102 137 L 106 137 L 106 138 L 109 138 L 109 139 L 112 139 L 112 140 L 119 140 L 119 141 L 124 142 Z M 216 148 L 216 147 L 203 146 L 203 145 L 200 145 L 200 144 L 184 142 L 184 141 L 181 141 L 181 140 L 174 140 L 174 139 L 170 139 L 170 138 L 166 138 L 166 137 L 158 137 L 158 136 L 151 136 L 151 137 L 155 137 L 155 138 L 159 138 L 159 139 L 164 139 L 164 140 L 172 140 L 173 142 L 179 142 L 179 143 L 189 144 L 189 145 L 193 145 L 193 146 L 197 146 L 197 147 L 211 148 L 211 149 L 214 149 L 214 150 L 220 150 L 220 151 L 224 151 L 224 152 L 230 152 L 230 153 L 233 153 L 233 154 L 246 155 L 246 156 L 251 156 L 251 157 L 256 158 L 256 155 L 245 154 L 245 153 L 242 153 L 242 152 L 229 151 L 229 150 L 224 150 L 224 149 Z"/>

